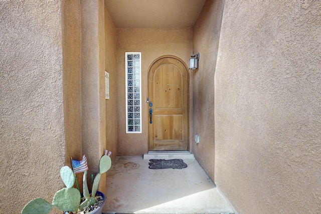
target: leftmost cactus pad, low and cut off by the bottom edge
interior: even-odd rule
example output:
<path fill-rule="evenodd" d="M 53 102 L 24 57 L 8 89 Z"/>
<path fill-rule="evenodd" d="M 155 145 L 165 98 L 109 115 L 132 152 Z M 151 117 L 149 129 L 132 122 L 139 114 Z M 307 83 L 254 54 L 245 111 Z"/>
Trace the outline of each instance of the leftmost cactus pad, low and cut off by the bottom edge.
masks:
<path fill-rule="evenodd" d="M 38 197 L 29 201 L 21 211 L 21 214 L 47 214 L 51 208 L 52 204 Z"/>

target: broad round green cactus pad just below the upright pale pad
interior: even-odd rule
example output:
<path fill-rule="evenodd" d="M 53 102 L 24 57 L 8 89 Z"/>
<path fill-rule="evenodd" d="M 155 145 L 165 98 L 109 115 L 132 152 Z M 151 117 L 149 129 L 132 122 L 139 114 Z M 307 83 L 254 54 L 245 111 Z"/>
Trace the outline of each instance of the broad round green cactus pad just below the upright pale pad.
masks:
<path fill-rule="evenodd" d="M 56 192 L 52 204 L 63 211 L 75 211 L 80 204 L 80 192 L 76 188 L 63 188 Z"/>

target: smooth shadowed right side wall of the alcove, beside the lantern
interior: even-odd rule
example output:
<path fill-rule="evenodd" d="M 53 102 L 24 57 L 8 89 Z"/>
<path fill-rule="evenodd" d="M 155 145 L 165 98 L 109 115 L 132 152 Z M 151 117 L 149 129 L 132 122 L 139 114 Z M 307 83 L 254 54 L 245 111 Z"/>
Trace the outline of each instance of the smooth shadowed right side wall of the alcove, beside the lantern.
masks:
<path fill-rule="evenodd" d="M 191 147 L 194 156 L 214 181 L 214 74 L 224 1 L 206 1 L 193 28 L 194 54 L 200 53 L 199 68 L 190 71 L 193 82 Z M 200 137 L 199 144 L 194 136 Z"/>

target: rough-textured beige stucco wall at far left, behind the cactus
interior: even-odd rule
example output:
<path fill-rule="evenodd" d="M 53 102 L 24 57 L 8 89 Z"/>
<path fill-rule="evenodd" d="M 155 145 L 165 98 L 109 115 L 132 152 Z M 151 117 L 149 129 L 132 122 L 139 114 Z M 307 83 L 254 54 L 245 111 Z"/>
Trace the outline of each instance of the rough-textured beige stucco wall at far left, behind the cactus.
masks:
<path fill-rule="evenodd" d="M 0 11 L 0 212 L 20 213 L 63 186 L 61 1 L 1 1 Z"/>

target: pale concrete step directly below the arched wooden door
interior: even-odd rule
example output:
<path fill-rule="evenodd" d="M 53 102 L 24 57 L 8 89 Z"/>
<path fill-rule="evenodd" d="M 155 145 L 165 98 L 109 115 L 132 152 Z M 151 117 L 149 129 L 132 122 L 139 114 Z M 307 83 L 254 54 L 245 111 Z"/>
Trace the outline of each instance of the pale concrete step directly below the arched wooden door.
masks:
<path fill-rule="evenodd" d="M 148 151 L 143 155 L 144 160 L 150 159 L 195 159 L 189 151 Z"/>

